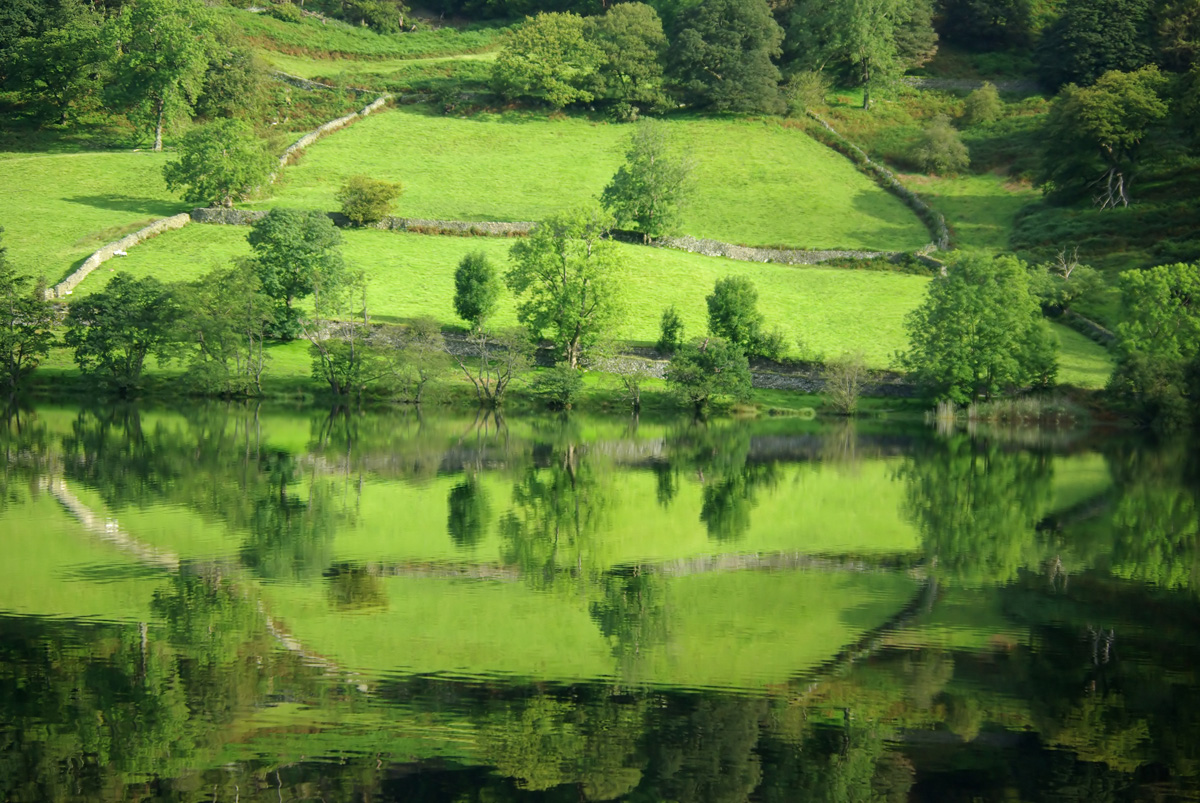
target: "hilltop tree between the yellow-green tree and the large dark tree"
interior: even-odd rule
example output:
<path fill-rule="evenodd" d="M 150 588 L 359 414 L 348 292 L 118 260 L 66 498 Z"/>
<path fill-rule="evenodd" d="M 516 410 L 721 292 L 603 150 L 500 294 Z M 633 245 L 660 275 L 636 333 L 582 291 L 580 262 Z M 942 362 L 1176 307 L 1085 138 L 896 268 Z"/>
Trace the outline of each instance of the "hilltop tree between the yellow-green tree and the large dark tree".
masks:
<path fill-rule="evenodd" d="M 596 95 L 638 110 L 666 104 L 662 61 L 667 37 L 658 12 L 643 2 L 622 2 L 589 20 L 588 36 L 604 54 Z"/>

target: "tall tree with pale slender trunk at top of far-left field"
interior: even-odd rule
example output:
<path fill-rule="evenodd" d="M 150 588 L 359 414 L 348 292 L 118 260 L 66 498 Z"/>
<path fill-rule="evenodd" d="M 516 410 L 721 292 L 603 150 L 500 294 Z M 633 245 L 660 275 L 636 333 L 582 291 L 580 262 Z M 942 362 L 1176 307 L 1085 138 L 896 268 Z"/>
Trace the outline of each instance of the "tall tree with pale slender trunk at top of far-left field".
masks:
<path fill-rule="evenodd" d="M 155 150 L 204 86 L 214 30 L 214 14 L 199 0 L 133 0 L 116 18 L 116 86 L 133 119 L 152 128 Z"/>

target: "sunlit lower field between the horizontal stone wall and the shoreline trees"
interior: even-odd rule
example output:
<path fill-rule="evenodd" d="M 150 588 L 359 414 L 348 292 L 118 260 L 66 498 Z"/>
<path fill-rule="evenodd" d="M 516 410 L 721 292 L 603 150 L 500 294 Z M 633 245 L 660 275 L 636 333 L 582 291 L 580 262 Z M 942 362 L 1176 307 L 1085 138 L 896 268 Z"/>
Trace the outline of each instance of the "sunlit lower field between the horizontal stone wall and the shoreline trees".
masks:
<path fill-rule="evenodd" d="M 248 230 L 193 224 L 163 234 L 130 251 L 128 257 L 107 263 L 77 288 L 76 295 L 104 287 L 116 270 L 164 281 L 196 278 L 234 256 L 248 254 Z M 511 245 L 505 239 L 349 230 L 344 253 L 371 280 L 368 304 L 377 319 L 431 314 L 443 324 L 460 324 L 452 306 L 458 260 L 481 250 L 503 270 Z M 920 301 L 928 281 L 892 272 L 734 262 L 634 245 L 620 248 L 629 264 L 624 282 L 628 314 L 611 332 L 616 337 L 654 342 L 662 310 L 672 304 L 684 319 L 686 335 L 703 336 L 704 296 L 718 278 L 737 274 L 754 280 L 768 325 L 784 330 L 793 352 L 797 337 L 803 337 L 810 348 L 829 355 L 862 350 L 878 367 L 889 365 L 892 353 L 904 346 L 904 317 Z M 506 293 L 497 323 L 516 323 Z"/>

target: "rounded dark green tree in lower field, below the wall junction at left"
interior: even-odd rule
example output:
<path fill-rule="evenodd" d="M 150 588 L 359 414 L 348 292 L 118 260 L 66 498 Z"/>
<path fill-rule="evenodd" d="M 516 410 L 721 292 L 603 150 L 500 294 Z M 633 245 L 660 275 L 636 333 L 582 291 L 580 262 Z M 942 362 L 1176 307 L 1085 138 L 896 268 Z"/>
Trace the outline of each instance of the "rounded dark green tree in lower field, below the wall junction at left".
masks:
<path fill-rule="evenodd" d="M 342 280 L 342 235 L 324 212 L 272 209 L 246 238 L 263 292 L 275 300 L 275 335 L 293 340 L 300 318 L 293 301 L 332 292 Z"/>

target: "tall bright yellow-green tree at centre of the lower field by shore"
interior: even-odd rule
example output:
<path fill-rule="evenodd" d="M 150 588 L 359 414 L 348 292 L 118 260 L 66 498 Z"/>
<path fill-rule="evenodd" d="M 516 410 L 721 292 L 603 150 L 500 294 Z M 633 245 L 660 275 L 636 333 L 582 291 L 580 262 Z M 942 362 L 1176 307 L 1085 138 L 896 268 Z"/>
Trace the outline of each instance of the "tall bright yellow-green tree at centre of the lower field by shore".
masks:
<path fill-rule="evenodd" d="M 512 246 L 505 283 L 517 319 L 548 337 L 571 368 L 618 320 L 624 259 L 607 239 L 613 220 L 599 206 L 551 215 Z"/>

